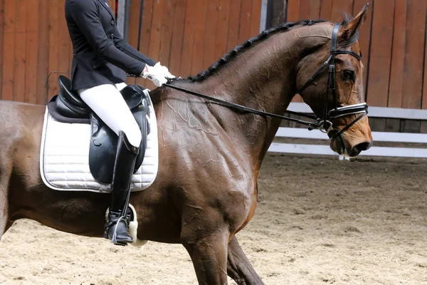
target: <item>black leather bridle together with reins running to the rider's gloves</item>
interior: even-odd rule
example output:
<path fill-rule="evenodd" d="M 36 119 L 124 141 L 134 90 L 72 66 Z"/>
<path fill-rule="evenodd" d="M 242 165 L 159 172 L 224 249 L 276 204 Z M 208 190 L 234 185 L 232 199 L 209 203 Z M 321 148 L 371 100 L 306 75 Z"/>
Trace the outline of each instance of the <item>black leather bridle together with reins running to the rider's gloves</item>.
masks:
<path fill-rule="evenodd" d="M 315 120 L 315 122 L 309 122 L 306 120 L 299 120 L 296 118 L 290 118 L 290 117 L 286 117 L 283 115 L 278 115 L 278 114 L 264 112 L 261 110 L 256 110 L 253 108 L 248 108 L 248 107 L 245 107 L 243 105 L 238 105 L 236 103 L 231 103 L 231 102 L 228 102 L 226 100 L 214 98 L 214 97 L 211 97 L 209 95 L 204 95 L 202 93 L 198 93 L 195 91 L 188 90 L 186 88 L 173 86 L 169 83 L 165 83 L 165 84 L 163 84 L 163 86 L 167 86 L 167 87 L 172 88 L 172 89 L 180 90 L 180 91 L 187 93 L 187 94 L 196 95 L 196 96 L 198 96 L 200 98 L 204 98 L 206 100 L 211 100 L 211 101 L 218 103 L 219 105 L 223 105 L 227 108 L 240 110 L 240 111 L 243 111 L 246 113 L 253 113 L 255 115 L 263 115 L 263 116 L 267 116 L 267 117 L 280 118 L 282 120 L 290 120 L 292 122 L 300 123 L 302 125 L 308 125 L 309 130 L 317 129 L 317 130 L 322 131 L 323 133 L 330 133 L 331 130 L 334 130 L 334 127 L 333 127 L 333 124 L 331 121 L 334 120 L 335 118 L 339 118 L 339 117 L 347 116 L 347 115 L 360 114 L 356 119 L 354 119 L 352 121 L 352 123 L 349 123 L 348 125 L 346 125 L 341 130 L 337 130 L 337 133 L 332 135 L 332 137 L 330 138 L 332 140 L 333 138 L 337 137 L 338 135 L 341 135 L 345 130 L 348 130 L 350 127 L 352 127 L 352 125 L 357 123 L 357 121 L 362 119 L 368 113 L 367 103 L 359 103 L 359 104 L 347 105 L 344 107 L 337 107 L 337 93 L 336 93 L 336 83 L 335 83 L 335 56 L 337 54 L 350 54 L 351 56 L 356 58 L 358 61 L 361 61 L 361 59 L 362 59 L 361 56 L 359 56 L 357 53 L 354 53 L 353 51 L 337 50 L 337 33 L 339 30 L 339 26 L 340 26 L 340 24 L 335 24 L 334 29 L 332 31 L 330 57 L 327 58 L 327 61 L 325 61 L 325 63 L 323 63 L 322 66 L 320 66 L 320 68 L 318 68 L 317 71 L 310 77 L 310 79 L 308 79 L 308 81 L 304 85 L 302 85 L 302 87 L 298 90 L 298 93 L 301 94 L 301 92 L 303 90 L 305 90 L 305 88 L 307 88 L 307 86 L 309 86 L 315 80 L 315 78 L 322 72 L 322 70 L 326 66 L 329 65 L 328 79 L 327 79 L 327 97 L 329 97 L 329 94 L 332 93 L 332 98 L 333 98 L 333 101 L 335 104 L 334 108 L 332 108 L 331 110 L 328 110 L 327 103 L 325 103 L 325 115 L 323 118 L 317 118 L 317 116 L 315 116 L 315 115 L 309 115 L 306 113 L 300 113 L 300 112 L 294 112 L 294 111 L 286 110 L 287 113 L 290 113 L 292 115 L 300 115 L 300 116 L 305 117 L 305 118 L 310 118 L 312 120 Z"/>

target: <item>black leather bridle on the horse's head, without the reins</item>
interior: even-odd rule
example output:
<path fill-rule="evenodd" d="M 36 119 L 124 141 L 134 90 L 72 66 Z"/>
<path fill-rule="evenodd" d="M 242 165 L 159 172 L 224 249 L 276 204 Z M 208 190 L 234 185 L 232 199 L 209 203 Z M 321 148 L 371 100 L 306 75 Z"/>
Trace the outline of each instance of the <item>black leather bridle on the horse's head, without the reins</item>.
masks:
<path fill-rule="evenodd" d="M 322 72 L 322 70 L 329 65 L 328 70 L 328 77 L 327 77 L 327 91 L 326 95 L 327 98 L 330 98 L 330 93 L 332 93 L 332 100 L 334 102 L 334 108 L 331 110 L 328 110 L 327 106 L 327 100 L 325 101 L 325 115 L 323 118 L 317 118 L 316 120 L 319 122 L 319 130 L 321 130 L 323 133 L 329 133 L 331 130 L 334 130 L 334 125 L 332 124 L 332 120 L 347 116 L 347 115 L 357 115 L 360 114 L 357 118 L 355 118 L 352 123 L 349 123 L 341 130 L 337 130 L 337 133 L 332 135 L 331 140 L 342 133 L 344 133 L 345 130 L 348 130 L 352 125 L 357 123 L 360 119 L 362 119 L 365 115 L 368 113 L 368 105 L 367 103 L 359 103 L 359 104 L 353 104 L 353 105 L 347 105 L 344 107 L 338 107 L 337 106 L 337 85 L 335 82 L 335 56 L 337 54 L 349 54 L 356 58 L 358 61 L 361 61 L 362 57 L 359 56 L 357 53 L 354 53 L 353 51 L 346 51 L 346 50 L 337 50 L 337 34 L 339 30 L 340 24 L 335 24 L 334 29 L 332 30 L 332 38 L 331 38 L 331 50 L 330 50 L 330 56 L 327 58 L 327 61 L 320 66 L 319 69 L 310 77 L 310 79 L 298 90 L 298 93 L 301 94 L 307 86 L 309 86 L 315 78 Z M 326 99 L 327 99 L 326 98 Z"/>

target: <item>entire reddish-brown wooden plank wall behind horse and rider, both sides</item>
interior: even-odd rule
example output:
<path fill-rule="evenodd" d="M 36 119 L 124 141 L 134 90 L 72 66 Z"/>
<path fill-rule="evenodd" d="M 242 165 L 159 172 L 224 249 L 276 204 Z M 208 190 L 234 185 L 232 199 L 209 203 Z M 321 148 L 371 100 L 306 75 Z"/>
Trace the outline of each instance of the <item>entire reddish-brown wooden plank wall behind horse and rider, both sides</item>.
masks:
<path fill-rule="evenodd" d="M 269 0 L 268 25 L 299 19 L 341 21 L 367 0 Z M 69 72 L 72 48 L 65 0 L 0 0 L 0 98 L 44 104 Z M 199 73 L 259 31 L 262 0 L 144 0 L 140 50 L 176 76 Z M 427 0 L 370 0 L 360 44 L 367 103 L 427 109 Z M 130 43 L 137 46 L 139 0 L 132 1 Z M 110 0 L 115 6 L 115 1 Z M 135 82 L 129 79 L 128 83 Z M 138 80 L 149 88 L 152 83 Z M 47 86 L 47 88 L 45 88 Z M 375 130 L 427 132 L 427 123 L 375 120 Z"/>

